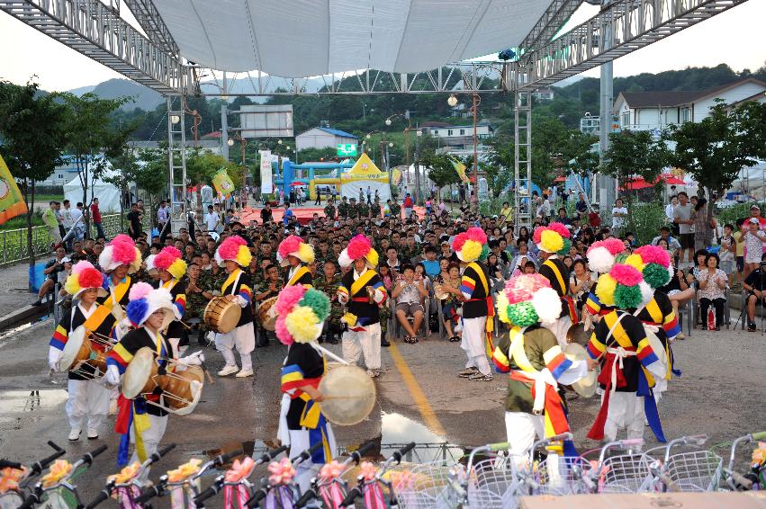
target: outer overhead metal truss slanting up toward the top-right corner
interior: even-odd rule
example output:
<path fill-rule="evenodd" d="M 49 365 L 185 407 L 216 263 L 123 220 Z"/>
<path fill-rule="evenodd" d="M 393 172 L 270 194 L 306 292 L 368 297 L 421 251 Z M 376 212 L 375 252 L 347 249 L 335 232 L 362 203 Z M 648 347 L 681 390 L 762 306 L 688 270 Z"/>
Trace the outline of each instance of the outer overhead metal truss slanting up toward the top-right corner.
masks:
<path fill-rule="evenodd" d="M 550 85 L 644 48 L 747 0 L 618 0 L 524 60 L 527 85 Z"/>

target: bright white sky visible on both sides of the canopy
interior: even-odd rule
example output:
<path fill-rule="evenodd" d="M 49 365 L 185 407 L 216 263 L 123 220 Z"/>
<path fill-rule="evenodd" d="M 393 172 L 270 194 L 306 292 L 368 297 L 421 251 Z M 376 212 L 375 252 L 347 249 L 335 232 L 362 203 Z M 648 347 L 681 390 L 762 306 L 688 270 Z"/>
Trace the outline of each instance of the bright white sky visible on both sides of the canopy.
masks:
<path fill-rule="evenodd" d="M 587 20 L 597 10 L 598 7 L 583 4 L 569 25 Z M 763 20 L 766 20 L 766 2 L 750 0 L 618 58 L 614 63 L 614 76 L 714 67 L 721 63 L 735 71 L 755 70 L 766 64 Z M 70 90 L 124 77 L 0 12 L 0 79 L 23 84 L 32 75 L 37 76 L 35 81 L 48 91 Z M 599 68 L 583 76 L 599 76 Z"/>

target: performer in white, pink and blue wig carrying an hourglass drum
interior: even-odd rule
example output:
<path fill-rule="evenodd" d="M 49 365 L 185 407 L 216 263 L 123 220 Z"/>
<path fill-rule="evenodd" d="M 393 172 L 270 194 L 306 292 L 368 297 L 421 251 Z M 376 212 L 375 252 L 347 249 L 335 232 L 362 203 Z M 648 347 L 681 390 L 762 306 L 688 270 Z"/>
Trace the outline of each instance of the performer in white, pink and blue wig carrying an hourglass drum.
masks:
<path fill-rule="evenodd" d="M 109 353 L 106 360 L 106 381 L 112 385 L 120 383 L 120 378 L 133 360 L 133 356 L 143 347 L 149 347 L 156 355 L 158 374 L 168 371 L 182 371 L 185 366 L 198 366 L 204 362 L 202 352 L 196 352 L 178 359 L 178 351 L 162 331 L 171 322 L 180 319 L 181 312 L 167 288 L 152 289 L 146 282 L 137 282 L 129 294 L 127 315 L 132 326 L 136 327 L 124 335 Z M 178 360 L 178 363 L 168 362 Z M 130 443 L 135 444 L 130 463 L 143 462 L 158 450 L 159 442 L 167 427 L 167 411 L 160 408 L 162 389 L 157 388 L 146 397 L 127 399 L 120 395 L 118 400 L 117 422 L 114 431 L 122 434 L 117 464 L 128 464 Z"/>

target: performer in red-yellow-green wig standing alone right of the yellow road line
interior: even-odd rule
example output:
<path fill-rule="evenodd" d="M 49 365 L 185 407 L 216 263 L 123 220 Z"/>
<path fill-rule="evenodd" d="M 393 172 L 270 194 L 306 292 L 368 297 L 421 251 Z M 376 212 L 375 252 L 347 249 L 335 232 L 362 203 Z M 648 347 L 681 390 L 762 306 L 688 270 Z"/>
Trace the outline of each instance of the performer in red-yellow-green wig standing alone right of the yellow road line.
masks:
<path fill-rule="evenodd" d="M 487 236 L 482 228 L 468 228 L 455 236 L 452 248 L 465 265 L 460 292 L 455 296 L 463 301 L 460 347 L 468 361 L 457 376 L 473 381 L 490 381 L 492 370 L 488 357 L 495 349 L 492 343 L 495 307 L 490 293 L 489 269 L 483 262 L 490 252 Z"/>

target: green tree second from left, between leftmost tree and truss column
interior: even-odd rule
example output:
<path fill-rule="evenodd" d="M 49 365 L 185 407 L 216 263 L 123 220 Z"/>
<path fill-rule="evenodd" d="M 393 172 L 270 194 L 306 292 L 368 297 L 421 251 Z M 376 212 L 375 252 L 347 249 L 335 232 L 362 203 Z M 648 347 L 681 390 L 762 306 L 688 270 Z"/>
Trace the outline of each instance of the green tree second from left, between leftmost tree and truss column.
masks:
<path fill-rule="evenodd" d="M 95 180 L 101 177 L 110 156 L 119 155 L 137 127 L 134 122 L 127 125 L 113 125 L 111 115 L 122 104 L 130 101 L 129 97 L 117 99 L 99 99 L 95 94 L 58 94 L 68 107 L 65 121 L 67 145 L 75 157 L 77 177 L 83 188 L 83 205 L 90 209 L 87 199 L 88 187 L 93 187 Z M 90 228 L 87 213 L 83 214 L 86 232 Z"/>

